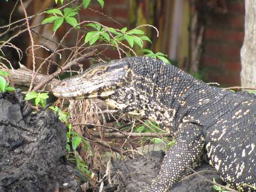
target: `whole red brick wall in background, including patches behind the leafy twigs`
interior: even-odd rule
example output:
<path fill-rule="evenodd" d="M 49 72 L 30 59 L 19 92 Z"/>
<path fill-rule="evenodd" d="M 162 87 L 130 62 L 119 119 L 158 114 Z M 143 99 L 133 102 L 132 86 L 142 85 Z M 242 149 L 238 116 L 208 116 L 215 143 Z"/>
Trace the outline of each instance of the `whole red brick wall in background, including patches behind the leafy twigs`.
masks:
<path fill-rule="evenodd" d="M 225 2 L 227 13 L 209 13 L 206 17 L 201 67 L 207 69 L 205 73 L 207 82 L 233 86 L 240 84 L 240 50 L 244 38 L 245 10 L 243 0 L 225 0 Z M 129 0 L 105 1 L 103 10 L 97 1 L 92 1 L 90 7 L 96 12 L 82 9 L 81 20 L 98 21 L 103 25 L 119 29 L 129 26 Z M 111 47 L 104 54 L 111 59 L 119 57 L 117 51 Z"/>

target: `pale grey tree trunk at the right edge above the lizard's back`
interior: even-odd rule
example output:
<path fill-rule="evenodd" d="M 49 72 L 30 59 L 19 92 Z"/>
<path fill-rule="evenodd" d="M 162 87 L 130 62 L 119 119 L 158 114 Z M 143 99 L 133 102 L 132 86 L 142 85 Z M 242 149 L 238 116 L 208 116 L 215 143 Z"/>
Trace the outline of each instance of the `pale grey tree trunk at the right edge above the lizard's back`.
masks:
<path fill-rule="evenodd" d="M 256 4 L 245 0 L 245 37 L 241 49 L 241 84 L 256 87 Z"/>

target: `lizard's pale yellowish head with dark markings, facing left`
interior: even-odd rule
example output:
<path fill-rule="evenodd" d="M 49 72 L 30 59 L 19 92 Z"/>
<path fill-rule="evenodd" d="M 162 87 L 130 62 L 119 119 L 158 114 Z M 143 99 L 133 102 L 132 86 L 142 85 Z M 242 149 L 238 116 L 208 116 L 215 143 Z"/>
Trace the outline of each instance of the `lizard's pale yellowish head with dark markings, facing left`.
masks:
<path fill-rule="evenodd" d="M 114 60 L 98 63 L 86 69 L 84 73 L 64 79 L 52 89 L 59 98 L 87 99 L 107 98 L 119 87 L 131 81 L 129 63 Z"/>

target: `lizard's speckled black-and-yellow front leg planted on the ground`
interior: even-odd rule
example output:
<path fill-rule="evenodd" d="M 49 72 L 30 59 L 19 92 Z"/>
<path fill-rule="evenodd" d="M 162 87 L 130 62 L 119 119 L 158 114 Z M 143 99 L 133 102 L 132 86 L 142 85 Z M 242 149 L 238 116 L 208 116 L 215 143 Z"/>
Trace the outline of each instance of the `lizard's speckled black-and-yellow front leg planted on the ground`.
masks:
<path fill-rule="evenodd" d="M 179 126 L 174 146 L 167 151 L 161 171 L 146 191 L 167 191 L 175 182 L 190 174 L 187 167 L 194 168 L 204 147 L 202 126 L 182 123 Z"/>

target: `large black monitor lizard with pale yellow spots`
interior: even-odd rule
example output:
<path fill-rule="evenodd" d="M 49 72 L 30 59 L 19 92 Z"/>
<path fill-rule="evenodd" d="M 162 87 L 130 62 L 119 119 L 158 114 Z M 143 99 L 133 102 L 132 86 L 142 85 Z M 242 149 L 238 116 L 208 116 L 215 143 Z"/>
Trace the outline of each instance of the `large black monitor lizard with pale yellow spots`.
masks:
<path fill-rule="evenodd" d="M 161 124 L 175 138 L 146 191 L 166 191 L 205 154 L 222 179 L 241 191 L 256 187 L 256 99 L 205 84 L 148 57 L 95 64 L 52 90 L 60 98 L 100 98 L 124 113 Z M 254 189 L 253 189 L 254 187 Z"/>

